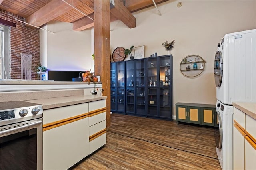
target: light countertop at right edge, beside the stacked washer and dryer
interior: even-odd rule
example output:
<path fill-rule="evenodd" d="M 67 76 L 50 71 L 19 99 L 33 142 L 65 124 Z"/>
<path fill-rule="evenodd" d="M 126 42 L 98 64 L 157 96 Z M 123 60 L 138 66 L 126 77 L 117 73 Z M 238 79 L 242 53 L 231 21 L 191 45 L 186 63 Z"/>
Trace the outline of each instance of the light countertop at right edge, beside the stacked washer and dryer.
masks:
<path fill-rule="evenodd" d="M 232 102 L 232 105 L 256 120 L 256 103 Z"/>

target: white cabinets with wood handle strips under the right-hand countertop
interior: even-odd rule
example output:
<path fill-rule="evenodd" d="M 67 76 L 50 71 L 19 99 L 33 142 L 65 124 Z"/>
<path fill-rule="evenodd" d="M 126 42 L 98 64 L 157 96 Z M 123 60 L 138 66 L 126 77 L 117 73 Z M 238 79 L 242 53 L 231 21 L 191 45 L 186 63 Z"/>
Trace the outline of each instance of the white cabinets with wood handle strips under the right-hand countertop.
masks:
<path fill-rule="evenodd" d="M 233 168 L 256 170 L 256 120 L 234 108 Z"/>

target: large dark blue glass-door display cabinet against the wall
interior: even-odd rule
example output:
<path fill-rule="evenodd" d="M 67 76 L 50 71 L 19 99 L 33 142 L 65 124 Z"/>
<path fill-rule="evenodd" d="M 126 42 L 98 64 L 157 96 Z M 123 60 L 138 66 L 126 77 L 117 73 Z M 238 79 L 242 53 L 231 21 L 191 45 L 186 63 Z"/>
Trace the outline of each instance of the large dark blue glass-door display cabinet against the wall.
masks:
<path fill-rule="evenodd" d="M 111 63 L 113 74 L 112 112 L 172 119 L 172 55 Z"/>

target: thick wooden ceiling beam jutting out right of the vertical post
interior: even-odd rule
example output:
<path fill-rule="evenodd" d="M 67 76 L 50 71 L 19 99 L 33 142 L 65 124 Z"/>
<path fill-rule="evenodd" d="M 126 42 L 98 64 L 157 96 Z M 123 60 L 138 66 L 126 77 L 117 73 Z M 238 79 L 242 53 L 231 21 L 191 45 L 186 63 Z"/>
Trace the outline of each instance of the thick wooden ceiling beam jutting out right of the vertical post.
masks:
<path fill-rule="evenodd" d="M 132 13 L 130 13 L 130 11 L 120 0 L 114 0 L 114 2 L 114 8 L 112 8 L 110 12 L 129 28 L 136 27 L 136 18 L 132 15 Z"/>

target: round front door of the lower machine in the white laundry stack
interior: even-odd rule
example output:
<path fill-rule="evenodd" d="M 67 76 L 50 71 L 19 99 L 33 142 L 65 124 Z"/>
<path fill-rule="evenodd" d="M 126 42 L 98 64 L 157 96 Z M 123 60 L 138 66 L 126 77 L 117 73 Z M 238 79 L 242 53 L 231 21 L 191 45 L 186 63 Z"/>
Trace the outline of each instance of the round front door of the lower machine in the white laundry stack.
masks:
<path fill-rule="evenodd" d="M 219 111 L 215 111 L 216 115 L 217 115 L 217 120 L 219 123 L 219 128 L 215 128 L 214 130 L 214 139 L 215 139 L 215 144 L 216 147 L 218 149 L 220 149 L 222 147 L 222 140 L 223 140 L 223 133 L 222 133 L 222 120 L 220 117 L 220 112 Z"/>

